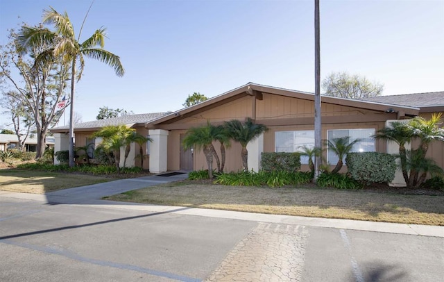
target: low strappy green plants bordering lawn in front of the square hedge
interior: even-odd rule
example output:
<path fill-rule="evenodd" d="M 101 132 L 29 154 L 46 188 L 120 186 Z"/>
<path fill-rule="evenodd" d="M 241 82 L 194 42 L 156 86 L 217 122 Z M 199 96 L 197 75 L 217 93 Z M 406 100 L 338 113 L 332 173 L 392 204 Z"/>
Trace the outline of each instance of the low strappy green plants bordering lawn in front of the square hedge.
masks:
<path fill-rule="evenodd" d="M 275 170 L 266 172 L 239 172 L 220 174 L 216 176 L 214 183 L 233 186 L 268 186 L 282 187 L 285 185 L 300 185 L 311 181 L 310 172 L 287 172 Z"/>

